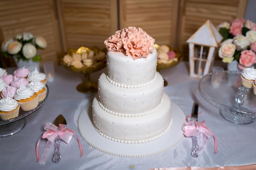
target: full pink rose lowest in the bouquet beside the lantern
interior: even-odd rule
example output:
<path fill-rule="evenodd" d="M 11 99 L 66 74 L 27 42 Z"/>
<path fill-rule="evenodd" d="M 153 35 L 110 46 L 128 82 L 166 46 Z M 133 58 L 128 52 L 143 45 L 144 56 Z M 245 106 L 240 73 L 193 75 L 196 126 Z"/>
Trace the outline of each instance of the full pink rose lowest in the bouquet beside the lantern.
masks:
<path fill-rule="evenodd" d="M 246 67 L 252 66 L 252 64 L 256 63 L 256 54 L 252 50 L 242 51 L 239 63 Z"/>

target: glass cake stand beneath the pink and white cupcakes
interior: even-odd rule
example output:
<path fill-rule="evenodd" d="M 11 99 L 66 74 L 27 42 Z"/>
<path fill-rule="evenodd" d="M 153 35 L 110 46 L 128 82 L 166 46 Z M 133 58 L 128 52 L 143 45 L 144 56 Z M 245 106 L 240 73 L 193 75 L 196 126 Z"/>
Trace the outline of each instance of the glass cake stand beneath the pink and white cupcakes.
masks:
<path fill-rule="evenodd" d="M 14 135 L 15 133 L 20 132 L 20 130 L 22 130 L 24 128 L 24 126 L 26 125 L 26 122 L 27 122 L 25 117 L 34 113 L 36 110 L 38 110 L 40 107 L 42 107 L 43 104 L 45 104 L 47 97 L 48 97 L 48 93 L 49 93 L 49 88 L 47 85 L 46 85 L 46 88 L 47 88 L 46 97 L 42 102 L 39 102 L 39 104 L 36 108 L 34 108 L 33 110 L 29 110 L 29 111 L 24 111 L 20 108 L 18 117 L 15 117 L 15 118 L 9 119 L 9 120 L 0 119 L 0 137 L 7 137 L 10 135 Z"/>

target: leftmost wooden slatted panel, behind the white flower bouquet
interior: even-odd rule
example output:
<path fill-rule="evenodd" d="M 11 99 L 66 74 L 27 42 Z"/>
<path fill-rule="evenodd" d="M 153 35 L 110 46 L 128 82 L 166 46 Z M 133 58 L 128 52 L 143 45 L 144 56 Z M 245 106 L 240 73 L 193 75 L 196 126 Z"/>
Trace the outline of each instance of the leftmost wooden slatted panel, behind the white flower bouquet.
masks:
<path fill-rule="evenodd" d="M 60 42 L 54 0 L 0 0 L 0 43 L 16 34 L 30 32 L 43 36 L 47 48 L 39 50 L 45 61 L 58 63 Z M 2 56 L 1 56 L 2 57 Z M 16 66 L 14 60 L 6 60 L 9 66 Z"/>

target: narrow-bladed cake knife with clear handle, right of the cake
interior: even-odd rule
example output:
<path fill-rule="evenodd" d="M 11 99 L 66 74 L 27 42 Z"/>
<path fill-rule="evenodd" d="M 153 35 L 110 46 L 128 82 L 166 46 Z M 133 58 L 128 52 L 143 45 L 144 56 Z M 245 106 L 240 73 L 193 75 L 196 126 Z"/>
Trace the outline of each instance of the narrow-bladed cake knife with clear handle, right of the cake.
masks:
<path fill-rule="evenodd" d="M 191 113 L 191 121 L 198 121 L 198 103 L 194 102 L 193 108 L 192 108 L 192 113 Z M 193 125 L 197 128 L 197 124 L 193 121 Z M 192 136 L 192 142 L 193 142 L 193 147 L 192 147 L 192 152 L 191 155 L 193 157 L 198 157 L 199 155 L 199 149 L 198 149 L 198 137 L 197 136 Z"/>

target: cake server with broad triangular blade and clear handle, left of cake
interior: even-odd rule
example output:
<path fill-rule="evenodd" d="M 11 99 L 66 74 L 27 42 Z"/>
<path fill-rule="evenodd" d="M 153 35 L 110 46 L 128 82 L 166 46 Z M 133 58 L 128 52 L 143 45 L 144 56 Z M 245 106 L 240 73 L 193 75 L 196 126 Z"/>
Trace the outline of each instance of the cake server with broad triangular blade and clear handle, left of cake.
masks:
<path fill-rule="evenodd" d="M 58 127 L 59 124 L 67 124 L 65 117 L 63 115 L 58 115 L 56 119 L 53 121 L 53 124 Z M 60 153 L 60 147 L 61 147 L 61 138 L 59 136 L 56 137 L 54 141 L 54 146 L 55 146 L 55 152 L 53 155 L 52 161 L 54 163 L 58 163 L 61 161 L 61 153 Z"/>

